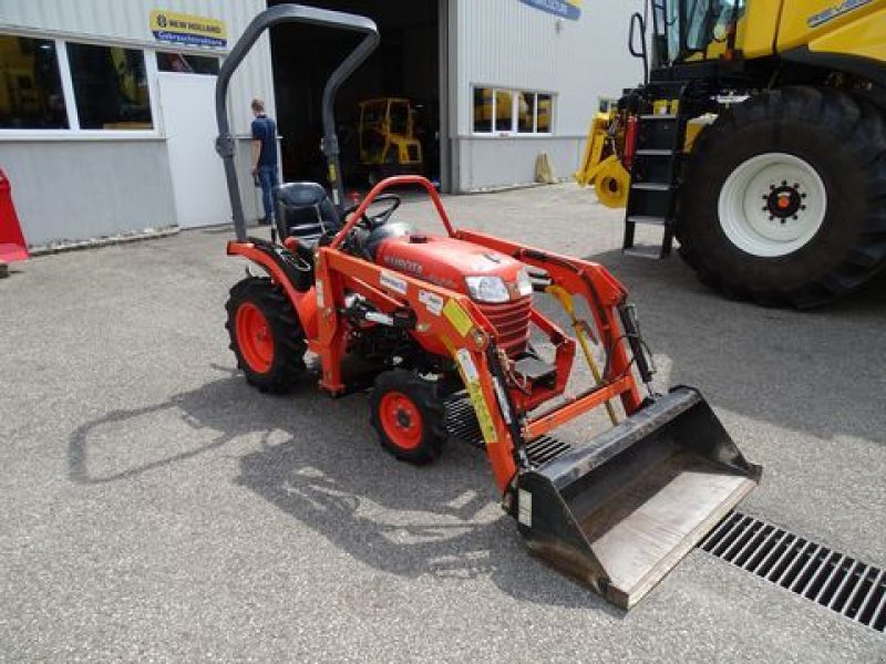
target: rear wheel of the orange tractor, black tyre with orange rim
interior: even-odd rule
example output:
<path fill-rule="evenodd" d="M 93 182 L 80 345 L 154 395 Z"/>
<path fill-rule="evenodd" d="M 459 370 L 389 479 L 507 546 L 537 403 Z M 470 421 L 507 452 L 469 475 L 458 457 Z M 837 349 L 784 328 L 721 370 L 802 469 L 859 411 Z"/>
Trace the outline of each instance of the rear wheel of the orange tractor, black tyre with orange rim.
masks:
<path fill-rule="evenodd" d="M 239 339 L 238 315 L 247 310 L 258 310 L 267 322 L 266 334 L 270 336 L 270 359 L 259 365 L 250 354 L 246 339 Z M 237 357 L 237 366 L 246 380 L 261 392 L 288 392 L 305 371 L 305 334 L 282 288 L 262 277 L 248 277 L 230 289 L 225 304 L 228 320 L 225 328 L 230 336 L 230 350 Z"/>

